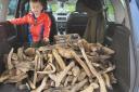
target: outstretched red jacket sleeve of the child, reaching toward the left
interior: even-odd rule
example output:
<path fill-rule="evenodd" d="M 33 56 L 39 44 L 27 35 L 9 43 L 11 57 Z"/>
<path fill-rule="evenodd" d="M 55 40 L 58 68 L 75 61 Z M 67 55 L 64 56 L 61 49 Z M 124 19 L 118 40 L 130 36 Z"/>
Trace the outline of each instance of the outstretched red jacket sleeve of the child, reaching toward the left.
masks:
<path fill-rule="evenodd" d="M 25 16 L 20 17 L 20 18 L 11 19 L 10 23 L 15 24 L 15 25 L 27 24 L 28 23 L 28 15 L 25 15 Z"/>

